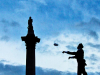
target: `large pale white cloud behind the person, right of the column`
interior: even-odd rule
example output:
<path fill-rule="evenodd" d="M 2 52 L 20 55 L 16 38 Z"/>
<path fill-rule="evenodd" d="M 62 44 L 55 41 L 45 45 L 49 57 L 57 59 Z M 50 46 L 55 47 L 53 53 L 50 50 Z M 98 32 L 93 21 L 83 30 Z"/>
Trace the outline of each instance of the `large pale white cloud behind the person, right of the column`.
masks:
<path fill-rule="evenodd" d="M 36 48 L 36 66 L 42 68 L 51 68 L 58 71 L 77 72 L 77 61 L 68 60 L 69 55 L 62 54 L 62 51 L 77 51 L 77 45 L 83 43 L 84 45 L 84 58 L 86 59 L 86 71 L 87 72 L 99 72 L 99 42 L 95 42 L 94 38 L 87 38 L 81 33 L 66 33 L 65 32 L 53 37 L 44 38 Z M 99 36 L 99 35 L 98 35 Z M 49 40 L 48 40 L 49 39 Z M 55 47 L 54 42 L 59 46 Z M 93 45 L 89 44 L 92 43 Z M 95 48 L 96 43 L 98 48 Z M 41 59 L 40 59 L 41 57 Z M 56 60 L 55 60 L 56 59 Z M 59 62 L 59 63 L 58 63 Z M 72 64 L 75 64 L 72 66 Z M 92 67 L 92 68 L 89 68 Z"/>

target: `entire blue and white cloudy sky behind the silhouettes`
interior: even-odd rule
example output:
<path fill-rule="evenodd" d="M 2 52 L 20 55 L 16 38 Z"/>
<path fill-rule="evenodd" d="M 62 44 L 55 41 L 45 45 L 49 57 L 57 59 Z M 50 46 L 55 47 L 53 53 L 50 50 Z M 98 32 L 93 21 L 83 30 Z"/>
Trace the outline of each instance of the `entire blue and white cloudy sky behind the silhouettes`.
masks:
<path fill-rule="evenodd" d="M 33 19 L 36 75 L 77 75 L 77 61 L 62 51 L 84 45 L 86 71 L 100 75 L 99 0 L 0 0 L 0 75 L 25 75 L 28 19 Z M 54 46 L 58 43 L 59 46 Z"/>

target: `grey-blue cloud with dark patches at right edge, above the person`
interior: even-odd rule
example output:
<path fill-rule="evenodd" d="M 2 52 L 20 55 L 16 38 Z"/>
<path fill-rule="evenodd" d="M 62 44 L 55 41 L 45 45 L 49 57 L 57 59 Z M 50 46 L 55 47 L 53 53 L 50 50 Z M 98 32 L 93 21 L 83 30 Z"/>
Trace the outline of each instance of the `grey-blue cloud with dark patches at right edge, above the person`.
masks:
<path fill-rule="evenodd" d="M 87 38 L 94 38 L 98 40 L 99 38 L 99 28 L 100 28 L 100 20 L 92 17 L 89 22 L 80 22 L 75 25 L 75 30 L 80 31 Z"/>

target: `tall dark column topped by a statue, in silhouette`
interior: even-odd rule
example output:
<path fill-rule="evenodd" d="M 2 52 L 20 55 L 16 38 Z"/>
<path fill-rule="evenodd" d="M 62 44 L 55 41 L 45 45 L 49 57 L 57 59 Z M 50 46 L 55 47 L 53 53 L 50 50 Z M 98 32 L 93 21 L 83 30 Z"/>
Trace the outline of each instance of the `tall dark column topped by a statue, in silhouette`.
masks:
<path fill-rule="evenodd" d="M 28 20 L 28 34 L 21 37 L 22 41 L 26 43 L 26 75 L 35 75 L 35 46 L 40 42 L 40 39 L 35 36 L 33 20 L 29 17 Z"/>

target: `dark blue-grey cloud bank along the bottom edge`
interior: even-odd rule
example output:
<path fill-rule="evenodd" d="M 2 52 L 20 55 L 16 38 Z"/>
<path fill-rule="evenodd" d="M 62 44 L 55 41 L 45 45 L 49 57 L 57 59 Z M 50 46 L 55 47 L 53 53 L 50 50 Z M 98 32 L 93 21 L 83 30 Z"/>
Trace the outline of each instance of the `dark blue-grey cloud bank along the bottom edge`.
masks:
<path fill-rule="evenodd" d="M 42 67 L 36 67 L 36 75 L 76 75 L 75 72 L 63 72 L 54 69 L 47 69 Z M 88 69 L 88 68 L 87 68 Z M 25 65 L 13 66 L 13 65 L 4 65 L 0 63 L 0 74 L 1 75 L 25 75 Z M 88 72 L 89 75 L 98 75 L 100 72 Z"/>

